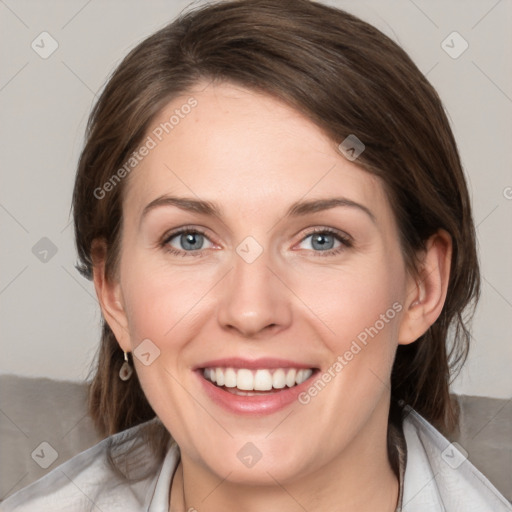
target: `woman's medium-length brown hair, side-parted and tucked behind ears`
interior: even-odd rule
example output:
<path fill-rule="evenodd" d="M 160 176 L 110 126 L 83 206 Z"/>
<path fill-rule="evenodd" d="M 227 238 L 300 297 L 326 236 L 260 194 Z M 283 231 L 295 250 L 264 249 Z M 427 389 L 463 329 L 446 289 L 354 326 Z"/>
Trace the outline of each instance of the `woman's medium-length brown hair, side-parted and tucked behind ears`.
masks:
<path fill-rule="evenodd" d="M 92 278 L 93 240 L 103 239 L 106 254 L 96 256 L 106 258 L 106 276 L 115 278 L 124 181 L 102 199 L 95 190 L 127 161 L 155 114 L 201 79 L 229 81 L 279 98 L 337 144 L 349 134 L 363 141 L 366 149 L 357 163 L 382 179 L 404 259 L 415 275 L 416 256 L 428 237 L 440 228 L 451 235 L 443 311 L 415 343 L 399 346 L 391 377 L 392 411 L 397 403 L 408 404 L 450 431 L 457 418 L 450 374 L 466 358 L 468 320 L 480 292 L 461 162 L 427 79 L 396 43 L 342 10 L 308 0 L 225 1 L 182 14 L 133 49 L 89 119 L 73 195 L 77 268 Z M 136 375 L 119 380 L 122 363 L 123 352 L 103 321 L 89 401 L 103 435 L 155 417 Z M 156 450 L 169 439 L 163 425 L 152 436 Z"/>

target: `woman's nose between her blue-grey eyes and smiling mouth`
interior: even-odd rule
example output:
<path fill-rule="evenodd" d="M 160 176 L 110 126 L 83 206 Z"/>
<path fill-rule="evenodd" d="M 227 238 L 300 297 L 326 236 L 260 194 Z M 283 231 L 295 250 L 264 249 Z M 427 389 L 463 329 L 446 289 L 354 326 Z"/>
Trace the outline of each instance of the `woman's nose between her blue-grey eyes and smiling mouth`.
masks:
<path fill-rule="evenodd" d="M 237 253 L 219 289 L 218 322 L 245 338 L 265 337 L 286 329 L 292 319 L 291 296 L 284 272 L 274 270 L 269 251 L 251 263 Z"/>

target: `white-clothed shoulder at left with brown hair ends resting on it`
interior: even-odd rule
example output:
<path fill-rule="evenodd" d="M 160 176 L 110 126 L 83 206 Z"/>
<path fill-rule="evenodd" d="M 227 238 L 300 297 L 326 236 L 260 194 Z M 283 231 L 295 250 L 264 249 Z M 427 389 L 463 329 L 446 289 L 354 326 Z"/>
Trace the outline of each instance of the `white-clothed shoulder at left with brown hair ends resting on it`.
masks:
<path fill-rule="evenodd" d="M 160 461 L 142 433 L 154 420 L 112 435 L 9 496 L 1 512 L 137 510 L 156 482 Z M 97 508 L 95 508 L 97 507 Z"/>

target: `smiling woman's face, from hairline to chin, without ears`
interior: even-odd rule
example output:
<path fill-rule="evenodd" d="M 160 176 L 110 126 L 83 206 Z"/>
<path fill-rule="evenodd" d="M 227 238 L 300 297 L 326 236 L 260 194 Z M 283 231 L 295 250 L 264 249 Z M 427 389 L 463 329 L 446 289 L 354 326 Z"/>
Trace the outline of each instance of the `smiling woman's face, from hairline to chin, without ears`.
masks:
<path fill-rule="evenodd" d="M 176 98 L 148 136 L 112 327 L 183 460 L 284 484 L 380 445 L 412 290 L 382 183 L 297 111 L 229 84 Z"/>

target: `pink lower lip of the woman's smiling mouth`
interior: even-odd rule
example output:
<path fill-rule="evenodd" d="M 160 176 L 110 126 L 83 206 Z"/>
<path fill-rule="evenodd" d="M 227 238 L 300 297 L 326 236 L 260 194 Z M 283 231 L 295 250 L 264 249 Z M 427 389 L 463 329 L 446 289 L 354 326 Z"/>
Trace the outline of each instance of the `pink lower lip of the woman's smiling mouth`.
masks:
<path fill-rule="evenodd" d="M 209 398 L 224 409 L 237 414 L 264 415 L 280 411 L 297 400 L 297 397 L 311 384 L 317 370 L 311 377 L 292 388 L 283 388 L 281 391 L 269 392 L 265 395 L 239 396 L 229 391 L 224 391 L 209 380 L 206 380 L 202 370 L 195 372 L 204 387 Z"/>

